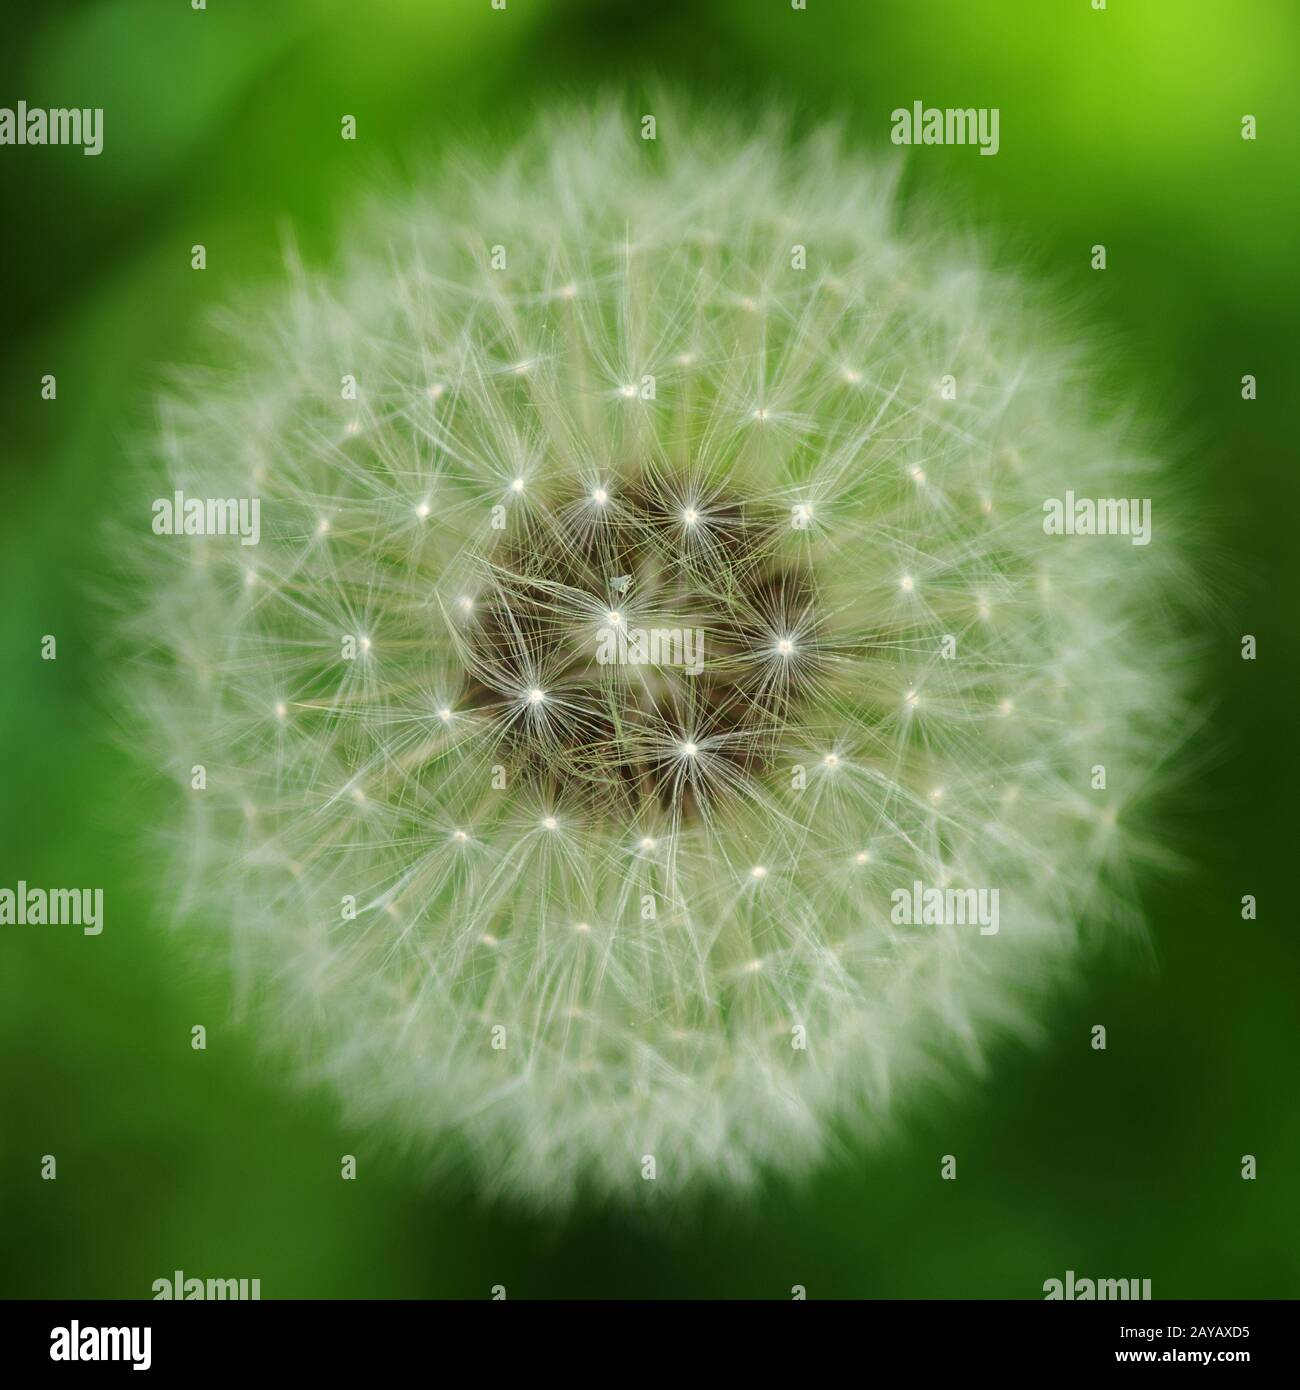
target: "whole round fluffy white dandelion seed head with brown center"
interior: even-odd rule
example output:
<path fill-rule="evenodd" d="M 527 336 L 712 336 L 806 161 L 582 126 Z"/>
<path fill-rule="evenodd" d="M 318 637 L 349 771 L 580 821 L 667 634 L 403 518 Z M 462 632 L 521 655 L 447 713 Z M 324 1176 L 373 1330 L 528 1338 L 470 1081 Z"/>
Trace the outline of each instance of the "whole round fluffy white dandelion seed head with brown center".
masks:
<path fill-rule="evenodd" d="M 150 480 L 256 489 L 256 570 L 150 537 L 128 620 L 142 746 L 220 769 L 184 874 L 271 1038 L 535 1202 L 805 1170 L 1027 1030 L 1132 916 L 1183 709 L 1162 548 L 1043 530 L 1155 477 L 1053 313 L 829 136 L 674 131 L 556 118 L 295 267 Z M 820 274 L 773 270 L 793 227 Z M 913 881 L 1000 933 L 897 926 Z"/>

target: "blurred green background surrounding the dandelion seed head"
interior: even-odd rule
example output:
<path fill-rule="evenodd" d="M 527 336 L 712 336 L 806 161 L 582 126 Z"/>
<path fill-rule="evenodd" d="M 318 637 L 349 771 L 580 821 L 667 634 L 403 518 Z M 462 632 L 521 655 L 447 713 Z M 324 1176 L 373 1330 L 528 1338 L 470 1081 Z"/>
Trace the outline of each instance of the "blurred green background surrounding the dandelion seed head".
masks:
<path fill-rule="evenodd" d="M 1300 1295 L 1300 981 L 1281 874 L 1297 828 L 1294 0 L 11 10 L 0 106 L 104 107 L 106 145 L 0 149 L 0 884 L 101 884 L 107 927 L 0 929 L 0 1293 L 147 1297 L 179 1268 L 260 1277 L 264 1297 L 1034 1298 L 1075 1269 L 1150 1277 L 1155 1297 Z M 231 1020 L 227 981 L 167 929 L 174 885 L 142 834 L 161 801 L 114 744 L 115 653 L 86 595 L 111 589 L 103 521 L 160 368 L 203 356 L 213 303 L 274 281 L 285 227 L 324 260 L 375 177 L 460 140 L 503 145 L 555 99 L 635 106 L 660 81 L 742 108 L 776 97 L 801 126 L 840 115 L 879 152 L 895 106 L 1001 108 L 996 158 L 916 150 L 905 188 L 1083 300 L 1114 345 L 1115 398 L 1164 411 L 1203 517 L 1205 720 L 1165 817 L 1186 867 L 1143 884 L 1153 952 L 1093 962 L 1040 1049 L 998 1048 L 987 1079 L 913 1109 L 895 1144 L 806 1184 L 544 1219 L 430 1187 Z M 57 662 L 39 659 L 46 632 Z M 1258 922 L 1240 919 L 1246 892 Z M 345 1152 L 357 1182 L 339 1180 Z M 957 1182 L 940 1180 L 943 1154 Z"/>

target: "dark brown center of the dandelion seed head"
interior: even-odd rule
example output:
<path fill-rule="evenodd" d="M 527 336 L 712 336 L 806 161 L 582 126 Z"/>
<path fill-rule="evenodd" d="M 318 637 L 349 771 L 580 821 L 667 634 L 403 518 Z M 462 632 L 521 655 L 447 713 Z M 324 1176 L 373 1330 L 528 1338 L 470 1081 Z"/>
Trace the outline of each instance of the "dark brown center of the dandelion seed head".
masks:
<path fill-rule="evenodd" d="M 688 816 L 770 766 L 824 669 L 812 569 L 790 514 L 730 485 L 599 492 L 517 514 L 484 557 L 466 703 L 544 795 Z"/>

